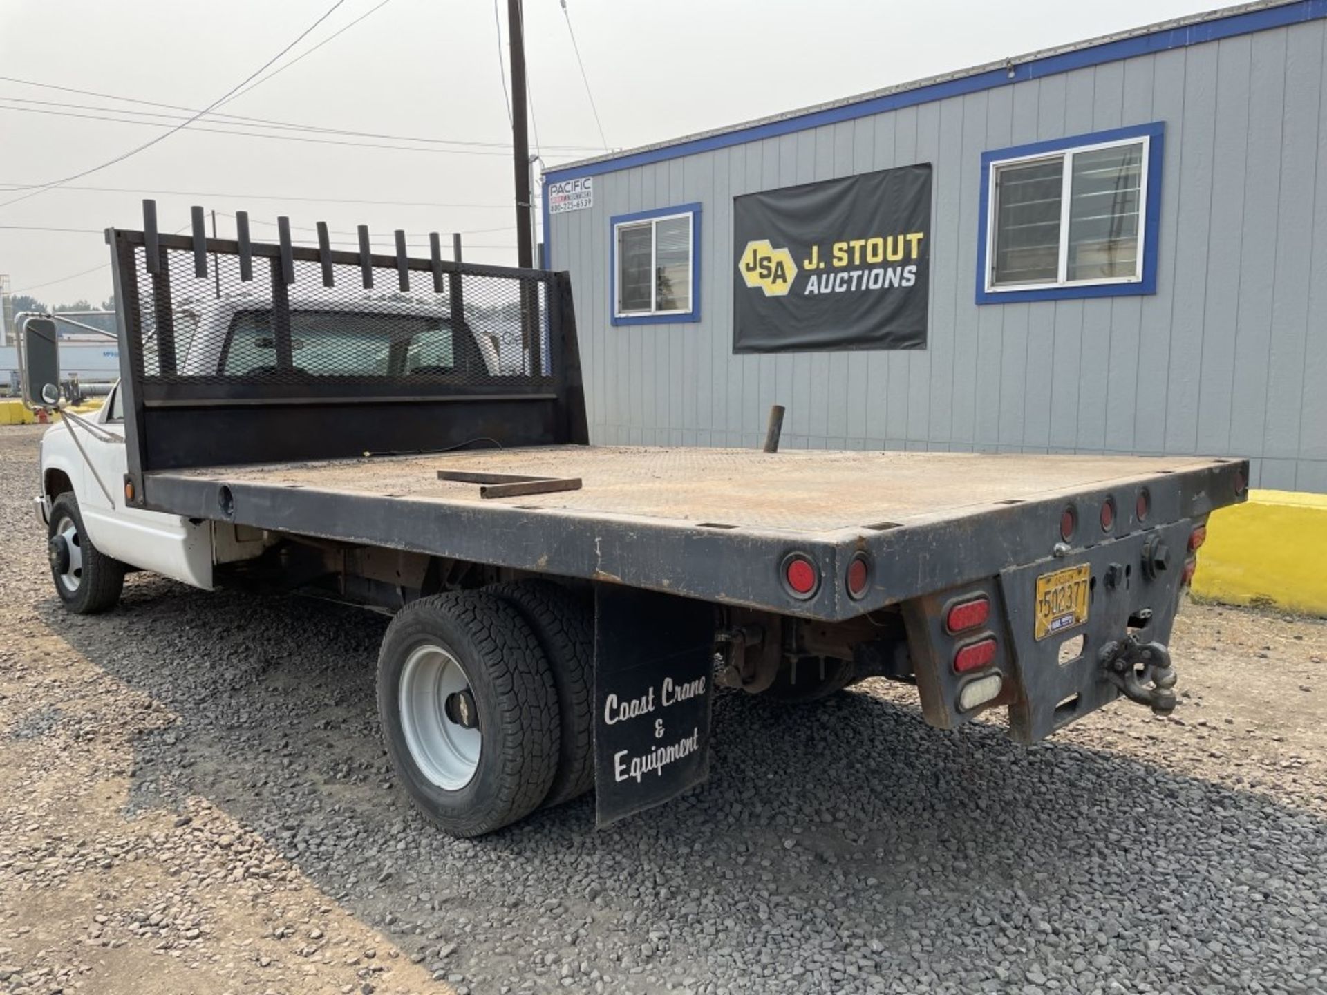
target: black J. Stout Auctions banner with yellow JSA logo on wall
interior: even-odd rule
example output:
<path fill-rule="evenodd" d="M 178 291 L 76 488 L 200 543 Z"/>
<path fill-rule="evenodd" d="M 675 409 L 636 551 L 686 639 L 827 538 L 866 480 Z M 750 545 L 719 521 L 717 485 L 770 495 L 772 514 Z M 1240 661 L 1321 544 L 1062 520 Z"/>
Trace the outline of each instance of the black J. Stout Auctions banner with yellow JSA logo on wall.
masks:
<path fill-rule="evenodd" d="M 930 163 L 734 200 L 733 352 L 925 349 Z"/>

